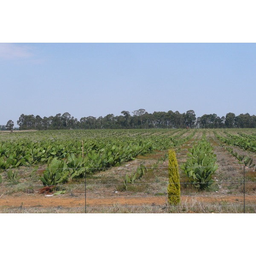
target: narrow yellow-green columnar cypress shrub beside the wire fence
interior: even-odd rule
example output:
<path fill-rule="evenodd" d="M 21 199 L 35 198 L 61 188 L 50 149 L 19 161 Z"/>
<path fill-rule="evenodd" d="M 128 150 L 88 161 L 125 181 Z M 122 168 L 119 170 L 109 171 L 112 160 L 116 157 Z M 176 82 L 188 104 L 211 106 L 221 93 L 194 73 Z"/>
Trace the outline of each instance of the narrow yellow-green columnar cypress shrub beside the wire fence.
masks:
<path fill-rule="evenodd" d="M 174 150 L 169 150 L 169 185 L 167 189 L 169 204 L 180 203 L 180 175 Z"/>

